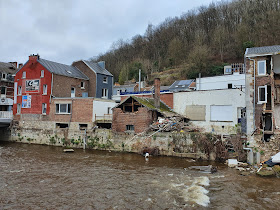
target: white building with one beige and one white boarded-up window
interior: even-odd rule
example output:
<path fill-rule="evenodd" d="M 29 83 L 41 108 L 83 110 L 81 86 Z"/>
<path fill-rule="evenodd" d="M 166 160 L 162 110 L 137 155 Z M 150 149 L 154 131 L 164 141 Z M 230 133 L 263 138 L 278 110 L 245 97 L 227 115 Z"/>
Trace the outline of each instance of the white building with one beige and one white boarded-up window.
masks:
<path fill-rule="evenodd" d="M 194 126 L 216 134 L 236 133 L 236 124 L 243 114 L 241 110 L 246 106 L 245 92 L 240 89 L 177 92 L 173 103 L 173 110 L 188 117 Z"/>

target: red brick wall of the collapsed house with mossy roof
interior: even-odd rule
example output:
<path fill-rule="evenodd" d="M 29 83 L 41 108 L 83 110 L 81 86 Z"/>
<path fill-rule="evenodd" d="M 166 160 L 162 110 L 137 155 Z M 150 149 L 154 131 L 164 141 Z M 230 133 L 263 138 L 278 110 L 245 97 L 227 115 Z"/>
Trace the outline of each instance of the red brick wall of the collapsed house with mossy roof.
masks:
<path fill-rule="evenodd" d="M 115 132 L 125 132 L 126 125 L 134 125 L 135 133 L 146 130 L 153 122 L 153 111 L 147 108 L 139 108 L 137 112 L 123 112 L 120 108 L 113 110 L 112 130 Z"/>

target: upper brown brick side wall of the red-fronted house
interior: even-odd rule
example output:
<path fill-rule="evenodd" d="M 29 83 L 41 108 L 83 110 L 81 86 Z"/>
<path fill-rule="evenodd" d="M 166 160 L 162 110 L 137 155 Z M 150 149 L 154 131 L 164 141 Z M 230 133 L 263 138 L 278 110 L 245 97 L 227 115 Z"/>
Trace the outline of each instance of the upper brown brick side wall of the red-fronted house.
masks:
<path fill-rule="evenodd" d="M 81 88 L 84 82 L 85 88 Z M 53 75 L 53 95 L 55 97 L 71 97 L 71 87 L 75 88 L 75 97 L 82 97 L 83 92 L 88 92 L 88 81 L 62 75 Z"/>

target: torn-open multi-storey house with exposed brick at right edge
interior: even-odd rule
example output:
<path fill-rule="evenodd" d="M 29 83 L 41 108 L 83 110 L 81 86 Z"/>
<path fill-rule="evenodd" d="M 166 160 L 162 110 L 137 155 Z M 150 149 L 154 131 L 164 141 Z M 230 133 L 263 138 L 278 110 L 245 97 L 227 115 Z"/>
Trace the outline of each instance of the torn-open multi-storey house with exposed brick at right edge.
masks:
<path fill-rule="evenodd" d="M 247 136 L 269 141 L 280 132 L 280 45 L 247 48 Z"/>

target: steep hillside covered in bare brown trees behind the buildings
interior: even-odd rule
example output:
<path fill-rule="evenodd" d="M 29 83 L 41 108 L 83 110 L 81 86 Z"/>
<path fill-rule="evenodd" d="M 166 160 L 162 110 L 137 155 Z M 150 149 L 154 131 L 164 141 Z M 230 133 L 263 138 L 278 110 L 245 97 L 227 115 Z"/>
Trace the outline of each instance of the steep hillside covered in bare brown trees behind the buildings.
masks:
<path fill-rule="evenodd" d="M 96 60 L 121 84 L 137 79 L 138 69 L 165 85 L 175 79 L 218 75 L 226 63 L 243 62 L 246 47 L 280 44 L 280 0 L 238 0 L 201 6 L 144 35 L 119 40 Z M 165 72 L 169 70 L 169 72 Z M 171 72 L 171 73 L 170 73 Z"/>

